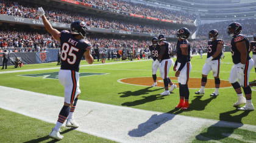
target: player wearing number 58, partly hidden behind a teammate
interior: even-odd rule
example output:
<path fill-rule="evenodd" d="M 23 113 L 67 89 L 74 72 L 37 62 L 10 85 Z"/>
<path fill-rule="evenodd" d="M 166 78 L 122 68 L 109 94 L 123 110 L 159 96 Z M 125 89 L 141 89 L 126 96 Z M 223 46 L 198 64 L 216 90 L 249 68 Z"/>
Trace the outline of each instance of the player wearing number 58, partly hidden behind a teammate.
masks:
<path fill-rule="evenodd" d="M 160 67 L 160 64 L 158 67 L 153 67 L 153 63 L 155 62 L 155 59 L 157 59 L 157 57 L 160 54 L 160 45 L 158 44 L 158 39 L 156 37 L 152 38 L 152 45 L 149 45 L 149 50 L 151 52 L 152 55 L 152 78 L 154 81 L 154 84 L 151 85 L 151 87 L 155 87 L 157 86 L 157 69 Z"/>

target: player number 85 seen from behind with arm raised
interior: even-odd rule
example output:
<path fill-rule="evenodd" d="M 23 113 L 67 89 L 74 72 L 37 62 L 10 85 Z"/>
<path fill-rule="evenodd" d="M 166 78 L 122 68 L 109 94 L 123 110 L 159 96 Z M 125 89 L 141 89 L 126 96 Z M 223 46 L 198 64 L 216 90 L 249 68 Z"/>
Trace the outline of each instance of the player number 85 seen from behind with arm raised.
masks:
<path fill-rule="evenodd" d="M 71 32 L 67 30 L 59 32 L 52 28 L 46 16 L 44 16 L 42 7 L 38 8 L 37 14 L 43 19 L 46 30 L 61 44 L 62 62 L 59 71 L 59 82 L 65 87 L 65 101 L 62 110 L 60 110 L 59 119 L 49 136 L 55 139 L 63 139 L 63 136 L 60 135 L 60 127 L 66 119 L 66 127 L 79 127 L 73 116 L 81 92 L 79 88 L 79 65 L 82 56 L 85 56 L 88 64 L 93 63 L 93 57 L 90 54 L 91 44 L 84 39 L 87 27 L 83 21 L 73 21 L 70 27 Z"/>

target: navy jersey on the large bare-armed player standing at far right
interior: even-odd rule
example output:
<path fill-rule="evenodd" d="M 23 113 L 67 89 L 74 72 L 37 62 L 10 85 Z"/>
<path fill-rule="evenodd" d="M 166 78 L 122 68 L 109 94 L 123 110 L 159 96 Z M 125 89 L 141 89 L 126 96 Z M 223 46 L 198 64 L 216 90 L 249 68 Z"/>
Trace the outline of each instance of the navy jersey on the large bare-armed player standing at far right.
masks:
<path fill-rule="evenodd" d="M 240 52 L 238 51 L 235 44 L 236 42 L 242 42 L 242 41 L 246 42 L 245 48 L 247 48 L 247 60 L 251 59 L 251 57 L 249 56 L 249 48 L 250 48 L 249 40 L 244 35 L 235 35 L 231 41 L 231 53 L 232 53 L 232 59 L 234 64 L 238 64 L 239 62 L 241 62 Z"/>

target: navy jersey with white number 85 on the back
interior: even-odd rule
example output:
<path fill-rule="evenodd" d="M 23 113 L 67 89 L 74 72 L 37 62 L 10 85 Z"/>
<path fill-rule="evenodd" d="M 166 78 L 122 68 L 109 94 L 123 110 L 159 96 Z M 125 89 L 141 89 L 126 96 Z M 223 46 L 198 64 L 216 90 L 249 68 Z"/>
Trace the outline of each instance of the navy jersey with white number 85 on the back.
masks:
<path fill-rule="evenodd" d="M 91 50 L 90 42 L 85 39 L 76 39 L 71 33 L 63 30 L 60 34 L 60 52 L 62 53 L 62 70 L 79 71 L 82 56 L 87 50 Z"/>

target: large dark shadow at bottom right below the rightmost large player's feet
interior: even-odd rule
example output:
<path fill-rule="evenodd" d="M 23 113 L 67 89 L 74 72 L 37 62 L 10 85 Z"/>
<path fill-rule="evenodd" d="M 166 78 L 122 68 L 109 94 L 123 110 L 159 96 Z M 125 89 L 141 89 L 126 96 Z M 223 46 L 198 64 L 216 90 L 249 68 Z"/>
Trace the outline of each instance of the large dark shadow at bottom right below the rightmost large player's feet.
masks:
<path fill-rule="evenodd" d="M 211 141 L 211 140 L 221 140 L 225 138 L 229 138 L 230 135 L 239 127 L 243 126 L 242 118 L 246 117 L 250 111 L 240 111 L 242 112 L 240 115 L 233 115 L 234 113 L 238 112 L 239 110 L 235 109 L 232 111 L 226 111 L 224 113 L 219 114 L 219 122 L 216 122 L 216 124 L 211 125 L 207 128 L 207 131 L 203 131 L 203 133 L 200 133 L 196 136 L 196 139 L 199 141 Z M 225 122 L 229 121 L 229 122 Z M 230 123 L 231 122 L 231 123 Z M 242 130 L 242 129 L 239 129 Z M 243 132 L 252 132 L 248 130 L 240 131 L 242 134 Z M 240 134 L 241 134 L 240 133 Z M 242 136 L 240 139 L 230 138 L 229 140 L 232 142 L 237 141 L 243 141 L 243 137 L 246 136 L 247 133 L 244 133 L 244 135 L 238 135 Z"/>

